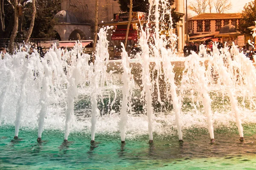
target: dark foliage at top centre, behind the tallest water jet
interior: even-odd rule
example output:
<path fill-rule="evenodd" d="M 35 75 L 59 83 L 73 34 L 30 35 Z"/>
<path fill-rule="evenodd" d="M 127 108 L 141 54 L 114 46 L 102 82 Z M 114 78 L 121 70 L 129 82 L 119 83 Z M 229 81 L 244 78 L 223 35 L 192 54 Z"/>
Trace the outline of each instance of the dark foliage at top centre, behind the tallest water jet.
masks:
<path fill-rule="evenodd" d="M 118 1 L 119 3 L 119 7 L 120 10 L 123 12 L 128 12 L 129 11 L 129 4 L 130 4 L 130 0 L 114 0 L 114 1 Z M 167 0 L 167 4 L 166 6 L 171 9 L 171 15 L 172 15 L 172 22 L 173 25 L 172 27 L 176 27 L 176 23 L 180 20 L 180 17 L 175 13 L 175 8 L 172 8 L 171 6 L 174 4 L 175 0 Z M 161 3 L 161 2 L 160 2 Z M 159 5 L 160 8 L 160 13 L 161 11 L 163 11 L 163 8 L 161 8 L 161 4 Z M 154 8 L 154 6 L 153 6 Z M 132 11 L 136 12 L 136 11 L 140 11 L 140 12 L 145 12 L 145 13 L 149 13 L 149 3 L 148 0 L 133 0 L 133 6 L 132 6 Z M 169 22 L 169 14 L 166 14 L 164 17 L 164 20 L 166 23 L 170 24 Z M 154 20 L 153 17 L 151 17 L 151 20 Z"/>

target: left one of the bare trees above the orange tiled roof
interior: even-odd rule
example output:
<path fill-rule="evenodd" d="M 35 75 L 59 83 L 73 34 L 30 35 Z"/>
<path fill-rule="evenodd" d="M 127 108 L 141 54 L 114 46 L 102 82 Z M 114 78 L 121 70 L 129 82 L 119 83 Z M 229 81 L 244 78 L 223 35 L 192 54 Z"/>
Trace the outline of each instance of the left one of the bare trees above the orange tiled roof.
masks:
<path fill-rule="evenodd" d="M 207 11 L 207 0 L 192 0 L 188 8 L 197 14 L 204 14 Z"/>

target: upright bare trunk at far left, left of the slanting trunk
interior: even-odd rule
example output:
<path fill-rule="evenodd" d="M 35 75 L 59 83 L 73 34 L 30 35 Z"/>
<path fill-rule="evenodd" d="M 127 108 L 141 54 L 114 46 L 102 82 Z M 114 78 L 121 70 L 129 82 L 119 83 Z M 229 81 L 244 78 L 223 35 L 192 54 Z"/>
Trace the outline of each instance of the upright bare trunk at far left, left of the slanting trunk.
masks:
<path fill-rule="evenodd" d="M 10 49 L 9 49 L 10 54 L 12 54 L 14 52 L 14 39 L 15 39 L 17 31 L 18 31 L 17 5 L 18 5 L 18 1 L 14 0 L 14 26 L 13 26 L 12 34 L 10 37 Z"/>

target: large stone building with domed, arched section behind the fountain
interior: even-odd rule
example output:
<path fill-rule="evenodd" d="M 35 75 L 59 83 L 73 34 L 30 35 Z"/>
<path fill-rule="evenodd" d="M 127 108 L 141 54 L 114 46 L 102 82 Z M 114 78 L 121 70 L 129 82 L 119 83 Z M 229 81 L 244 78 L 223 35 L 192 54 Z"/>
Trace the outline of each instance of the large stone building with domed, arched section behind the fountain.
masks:
<path fill-rule="evenodd" d="M 93 40 L 94 0 L 61 0 L 61 10 L 55 15 L 58 22 L 55 31 L 58 32 L 62 41 L 67 40 Z M 184 0 L 175 0 L 173 5 L 180 21 L 177 23 L 175 33 L 178 35 L 178 51 L 184 46 Z M 119 4 L 114 0 L 99 0 L 98 22 L 109 23 L 113 21 L 113 14 L 119 13 Z"/>

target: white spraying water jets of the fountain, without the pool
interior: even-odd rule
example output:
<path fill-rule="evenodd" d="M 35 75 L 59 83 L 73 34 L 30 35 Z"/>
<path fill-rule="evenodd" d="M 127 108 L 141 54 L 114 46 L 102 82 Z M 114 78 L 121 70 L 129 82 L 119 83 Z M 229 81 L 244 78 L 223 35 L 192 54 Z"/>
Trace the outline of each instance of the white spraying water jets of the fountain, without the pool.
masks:
<path fill-rule="evenodd" d="M 157 1 L 154 3 L 157 9 L 159 4 Z M 160 28 L 159 13 L 155 12 L 154 17 L 157 28 Z M 203 58 L 195 53 L 179 58 L 172 48 L 166 48 L 168 42 L 175 43 L 175 35 L 167 39 L 156 29 L 153 36 L 155 43 L 148 45 L 152 37 L 147 27 L 141 31 L 141 55 L 130 59 L 123 47 L 122 59 L 110 61 L 106 39 L 108 29 L 101 28 L 98 33 L 94 65 L 88 64 L 90 55 L 83 53 L 79 42 L 66 52 L 55 46 L 44 58 L 40 58 L 37 51 L 29 55 L 20 50 L 12 56 L 7 54 L 0 62 L 0 123 L 15 125 L 15 139 L 18 139 L 20 126 L 38 128 L 38 141 L 41 141 L 44 128 L 65 129 L 66 142 L 70 131 L 85 128 L 91 131 L 93 143 L 95 134 L 100 131 L 97 126 L 102 126 L 102 129 L 102 122 L 113 119 L 111 116 L 115 115 L 113 131 L 120 131 L 122 142 L 125 142 L 126 133 L 133 131 L 133 119 L 140 117 L 148 126 L 151 143 L 154 132 L 167 133 L 169 130 L 161 129 L 171 128 L 157 120 L 157 116 L 163 116 L 160 113 L 170 112 L 165 108 L 167 104 L 173 108 L 175 115 L 172 118 L 177 130 L 172 133 L 177 132 L 180 142 L 183 141 L 183 129 L 189 126 L 183 122 L 186 119 L 187 123 L 190 119 L 186 118 L 189 115 L 187 105 L 192 106 L 195 115 L 199 112 L 206 115 L 206 119 L 195 118 L 194 121 L 200 119 L 199 122 L 204 122 L 203 127 L 207 122 L 211 142 L 214 142 L 216 115 L 211 105 L 213 100 L 219 99 L 212 98 L 212 92 L 218 94 L 221 91 L 223 98 L 230 100 L 240 140 L 244 140 L 242 118 L 245 116 L 241 115 L 241 106 L 245 105 L 246 96 L 242 96 L 243 102 L 239 103 L 239 91 L 246 91 L 250 105 L 255 107 L 253 91 L 256 89 L 256 74 L 253 63 L 239 53 L 235 45 L 232 53 L 227 47 L 220 52 L 214 45 L 212 54 L 205 54 Z M 81 98 L 90 100 L 87 105 L 90 105 L 91 111 L 79 116 L 78 112 L 84 109 L 76 108 Z M 122 101 L 117 101 L 117 98 L 122 98 Z M 137 103 L 142 103 L 140 111 L 133 109 Z M 113 105 L 119 105 L 121 109 L 114 110 Z M 101 125 L 97 124 L 98 119 L 101 119 Z M 139 129 L 142 130 L 142 127 Z"/>

